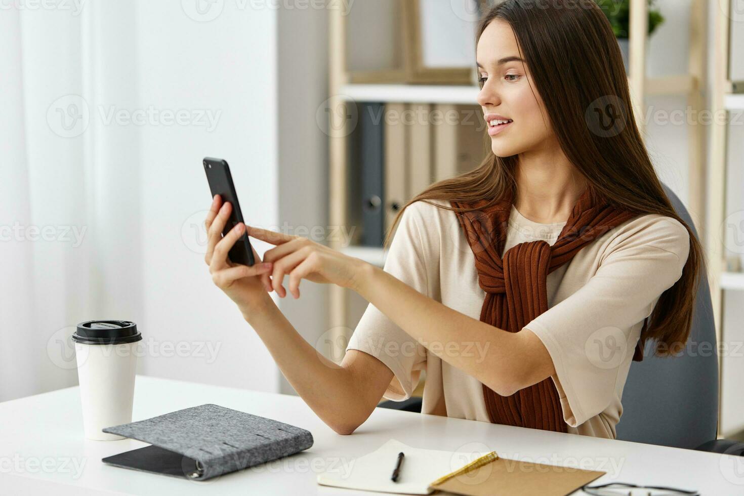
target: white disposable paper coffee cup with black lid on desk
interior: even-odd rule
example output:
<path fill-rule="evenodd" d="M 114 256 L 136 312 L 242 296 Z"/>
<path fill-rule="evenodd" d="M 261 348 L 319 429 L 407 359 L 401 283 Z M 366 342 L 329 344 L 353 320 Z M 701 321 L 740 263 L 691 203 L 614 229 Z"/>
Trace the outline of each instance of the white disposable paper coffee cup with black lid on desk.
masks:
<path fill-rule="evenodd" d="M 132 422 L 137 341 L 131 321 L 86 321 L 72 335 L 80 381 L 83 425 L 88 439 L 126 439 L 101 429 Z"/>

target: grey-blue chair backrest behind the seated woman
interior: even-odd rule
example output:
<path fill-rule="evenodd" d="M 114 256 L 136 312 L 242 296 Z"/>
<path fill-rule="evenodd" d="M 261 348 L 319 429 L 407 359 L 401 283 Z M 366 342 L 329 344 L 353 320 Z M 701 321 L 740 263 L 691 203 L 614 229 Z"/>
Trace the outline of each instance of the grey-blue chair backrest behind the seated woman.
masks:
<path fill-rule="evenodd" d="M 697 231 L 684 204 L 664 184 L 677 214 Z M 699 238 L 698 238 L 699 239 Z M 647 342 L 643 361 L 631 362 L 623 390 L 618 439 L 676 448 L 697 448 L 716 439 L 718 425 L 718 354 L 711 290 L 700 278 L 690 340 L 684 353 L 652 356 Z"/>

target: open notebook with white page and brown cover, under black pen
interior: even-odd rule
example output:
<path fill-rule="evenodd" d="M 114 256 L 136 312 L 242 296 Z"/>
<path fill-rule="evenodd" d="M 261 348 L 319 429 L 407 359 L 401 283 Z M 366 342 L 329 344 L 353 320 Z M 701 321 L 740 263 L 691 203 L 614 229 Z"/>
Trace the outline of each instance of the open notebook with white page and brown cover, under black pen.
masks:
<path fill-rule="evenodd" d="M 403 463 L 391 480 L 397 454 Z M 390 439 L 356 458 L 350 471 L 318 474 L 318 484 L 363 491 L 428 495 L 443 491 L 467 496 L 565 496 L 605 474 L 603 471 L 501 458 L 496 451 L 461 453 L 411 448 Z"/>

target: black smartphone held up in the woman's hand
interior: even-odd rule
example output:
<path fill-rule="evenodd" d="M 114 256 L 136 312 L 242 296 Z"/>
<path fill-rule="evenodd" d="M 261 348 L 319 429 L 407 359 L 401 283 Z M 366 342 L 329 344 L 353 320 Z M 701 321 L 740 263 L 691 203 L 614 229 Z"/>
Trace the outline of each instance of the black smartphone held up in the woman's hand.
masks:
<path fill-rule="evenodd" d="M 207 174 L 212 198 L 214 199 L 215 195 L 219 195 L 222 198 L 222 203 L 230 202 L 232 204 L 230 219 L 228 219 L 225 229 L 222 231 L 222 236 L 225 236 L 238 222 L 245 222 L 243 221 L 243 213 L 240 211 L 240 203 L 237 201 L 235 184 L 233 184 L 232 175 L 230 175 L 230 166 L 222 158 L 205 157 L 202 163 L 204 164 L 204 172 Z M 248 233 L 243 233 L 243 236 L 240 236 L 240 239 L 230 248 L 228 258 L 232 263 L 243 265 L 250 266 L 256 263 L 251 242 L 248 241 Z"/>

